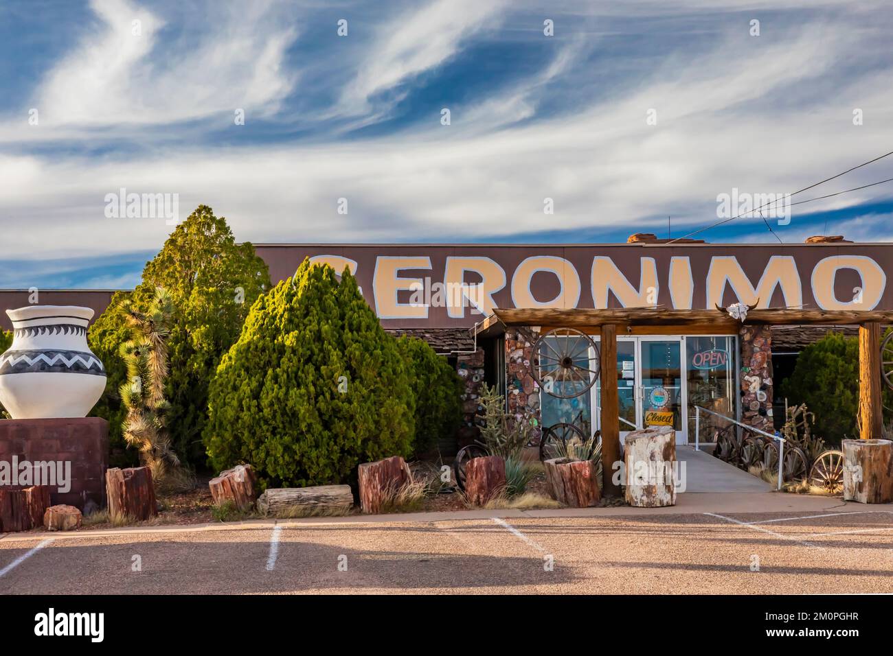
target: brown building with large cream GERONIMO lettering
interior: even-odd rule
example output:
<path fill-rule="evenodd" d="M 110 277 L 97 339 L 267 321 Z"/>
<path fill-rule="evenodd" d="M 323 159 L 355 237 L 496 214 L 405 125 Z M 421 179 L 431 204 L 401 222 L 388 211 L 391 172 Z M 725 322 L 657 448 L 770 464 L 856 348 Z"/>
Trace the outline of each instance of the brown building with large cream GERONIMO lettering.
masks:
<path fill-rule="evenodd" d="M 483 379 L 498 382 L 510 408 L 534 411 L 544 426 L 580 418 L 590 425 L 598 421 L 597 384 L 571 399 L 539 394 L 530 377 L 536 334 L 509 331 L 477 341 L 472 328 L 494 308 L 693 310 L 747 303 L 761 309 L 893 310 L 886 273 L 893 267 L 893 245 L 841 240 L 800 245 L 664 242 L 639 236 L 622 245 L 255 248 L 270 266 L 274 282 L 291 275 L 306 257 L 339 271 L 349 267 L 384 328 L 420 336 L 455 361 L 466 379 L 469 430 Z M 98 313 L 112 294 L 46 290 L 39 292 L 38 303 L 87 305 Z M 3 310 L 28 303 L 28 290 L 0 291 Z M 8 329 L 5 315 L 0 320 Z M 785 327 L 720 334 L 702 328 L 671 336 L 619 336 L 622 430 L 641 426 L 649 409 L 661 407 L 672 411 L 678 440 L 691 441 L 691 409 L 696 404 L 772 428 L 777 415 L 773 359 L 779 365 L 774 372 L 777 382 L 789 373 L 796 353 L 823 333 L 823 328 Z M 585 361 L 590 355 L 580 353 L 580 358 Z"/>

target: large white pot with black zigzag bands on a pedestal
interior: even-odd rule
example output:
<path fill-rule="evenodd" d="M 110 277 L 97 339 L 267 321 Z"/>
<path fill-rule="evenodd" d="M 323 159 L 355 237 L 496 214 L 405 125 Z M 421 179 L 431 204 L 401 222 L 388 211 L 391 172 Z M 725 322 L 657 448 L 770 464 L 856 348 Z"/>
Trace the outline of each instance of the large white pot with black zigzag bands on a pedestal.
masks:
<path fill-rule="evenodd" d="M 0 403 L 13 419 L 86 417 L 105 389 L 105 368 L 87 345 L 90 308 L 7 310 L 13 345 L 0 355 Z"/>

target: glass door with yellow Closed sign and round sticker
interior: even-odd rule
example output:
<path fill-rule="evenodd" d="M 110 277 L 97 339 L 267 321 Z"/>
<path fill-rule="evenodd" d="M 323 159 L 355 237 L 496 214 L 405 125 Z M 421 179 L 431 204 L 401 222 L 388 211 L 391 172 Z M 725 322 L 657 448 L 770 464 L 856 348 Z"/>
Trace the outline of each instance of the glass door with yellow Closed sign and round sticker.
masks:
<path fill-rule="evenodd" d="M 687 442 L 686 389 L 681 337 L 642 336 L 639 346 L 638 405 L 643 426 L 672 426 L 676 444 Z"/>

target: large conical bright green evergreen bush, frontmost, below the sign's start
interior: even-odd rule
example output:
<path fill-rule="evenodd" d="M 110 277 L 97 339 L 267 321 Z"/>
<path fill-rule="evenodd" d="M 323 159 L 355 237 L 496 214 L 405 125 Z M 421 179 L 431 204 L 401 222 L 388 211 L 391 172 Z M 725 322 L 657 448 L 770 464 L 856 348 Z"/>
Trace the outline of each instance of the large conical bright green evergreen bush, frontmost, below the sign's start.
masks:
<path fill-rule="evenodd" d="M 305 260 L 257 299 L 209 391 L 216 470 L 251 462 L 266 485 L 353 480 L 412 450 L 409 376 L 349 271 Z"/>

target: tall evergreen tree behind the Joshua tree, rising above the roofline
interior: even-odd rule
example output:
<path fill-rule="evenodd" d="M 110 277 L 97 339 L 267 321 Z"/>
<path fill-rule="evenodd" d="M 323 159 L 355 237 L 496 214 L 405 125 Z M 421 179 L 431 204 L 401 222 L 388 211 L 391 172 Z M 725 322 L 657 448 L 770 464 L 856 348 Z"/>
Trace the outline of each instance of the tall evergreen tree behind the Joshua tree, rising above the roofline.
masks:
<path fill-rule="evenodd" d="M 118 394 L 126 378 L 118 349 L 128 339 L 121 305 L 127 300 L 134 310 L 148 311 L 156 287 L 168 291 L 174 308 L 168 337 L 171 372 L 164 386 L 171 445 L 181 461 L 204 464 L 208 383 L 222 354 L 238 338 L 252 303 L 270 288 L 270 273 L 254 246 L 237 244 L 226 220 L 199 205 L 146 263 L 139 286 L 113 296 L 88 333 L 90 348 L 108 373 L 93 414 L 108 419 L 113 450 L 123 446 L 121 426 L 127 414 Z"/>

